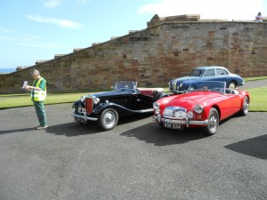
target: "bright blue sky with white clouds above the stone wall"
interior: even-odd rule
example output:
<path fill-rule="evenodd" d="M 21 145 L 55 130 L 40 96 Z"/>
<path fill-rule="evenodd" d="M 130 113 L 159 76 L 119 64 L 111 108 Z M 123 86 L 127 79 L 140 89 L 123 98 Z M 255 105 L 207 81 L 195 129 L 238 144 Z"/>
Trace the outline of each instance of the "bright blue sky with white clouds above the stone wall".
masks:
<path fill-rule="evenodd" d="M 8 0 L 0 8 L 0 72 L 144 29 L 156 13 L 225 20 L 267 16 L 267 0 Z"/>

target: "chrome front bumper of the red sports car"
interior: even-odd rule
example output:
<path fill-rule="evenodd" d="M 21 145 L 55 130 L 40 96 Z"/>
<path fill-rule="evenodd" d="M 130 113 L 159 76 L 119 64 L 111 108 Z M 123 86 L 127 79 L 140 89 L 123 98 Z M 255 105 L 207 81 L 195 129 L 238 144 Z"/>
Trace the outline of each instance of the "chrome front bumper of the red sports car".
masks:
<path fill-rule="evenodd" d="M 162 118 L 160 115 L 153 116 L 155 120 L 157 120 L 159 123 L 168 123 L 168 124 L 181 124 L 186 125 L 188 128 L 190 125 L 206 125 L 208 124 L 207 119 L 203 121 L 197 121 L 197 120 L 190 120 L 190 118 L 186 117 L 184 120 L 178 120 L 178 119 L 166 119 Z"/>

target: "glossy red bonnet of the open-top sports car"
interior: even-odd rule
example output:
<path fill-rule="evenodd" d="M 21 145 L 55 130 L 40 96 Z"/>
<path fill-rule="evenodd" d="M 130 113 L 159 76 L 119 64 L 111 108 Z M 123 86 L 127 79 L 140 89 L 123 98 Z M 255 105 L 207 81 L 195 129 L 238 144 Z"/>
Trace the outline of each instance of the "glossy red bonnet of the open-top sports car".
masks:
<path fill-rule="evenodd" d="M 189 92 L 177 95 L 173 100 L 166 103 L 165 107 L 182 107 L 187 109 L 194 108 L 198 103 L 214 99 L 216 97 L 222 97 L 220 92 Z"/>

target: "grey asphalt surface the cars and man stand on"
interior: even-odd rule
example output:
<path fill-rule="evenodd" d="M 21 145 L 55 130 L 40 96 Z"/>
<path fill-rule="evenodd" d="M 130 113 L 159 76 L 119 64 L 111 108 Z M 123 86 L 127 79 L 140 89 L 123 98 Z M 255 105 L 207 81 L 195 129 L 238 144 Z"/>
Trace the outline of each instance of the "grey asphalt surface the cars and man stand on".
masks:
<path fill-rule="evenodd" d="M 1 200 L 267 198 L 267 113 L 232 116 L 206 137 L 151 116 L 102 132 L 74 122 L 71 104 L 45 108 L 45 131 L 33 107 L 0 110 Z"/>

